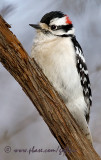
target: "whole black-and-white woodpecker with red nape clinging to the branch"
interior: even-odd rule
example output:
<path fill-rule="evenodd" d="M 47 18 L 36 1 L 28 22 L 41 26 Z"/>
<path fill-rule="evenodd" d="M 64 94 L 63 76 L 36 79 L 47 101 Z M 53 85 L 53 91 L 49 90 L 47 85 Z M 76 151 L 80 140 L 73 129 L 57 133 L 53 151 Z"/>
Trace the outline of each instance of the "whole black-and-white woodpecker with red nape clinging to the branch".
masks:
<path fill-rule="evenodd" d="M 36 29 L 31 58 L 42 69 L 92 143 L 88 126 L 92 106 L 91 84 L 72 21 L 61 11 L 51 11 L 38 24 L 29 25 Z"/>

